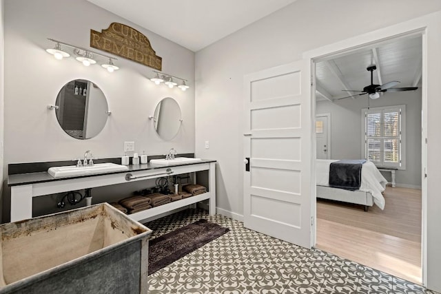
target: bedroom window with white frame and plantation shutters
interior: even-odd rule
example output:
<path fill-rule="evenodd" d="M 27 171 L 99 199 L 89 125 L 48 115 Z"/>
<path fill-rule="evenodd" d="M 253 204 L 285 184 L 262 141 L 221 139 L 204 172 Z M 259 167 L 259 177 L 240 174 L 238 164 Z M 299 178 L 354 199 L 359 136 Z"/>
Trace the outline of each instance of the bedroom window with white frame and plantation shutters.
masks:
<path fill-rule="evenodd" d="M 362 156 L 377 167 L 405 169 L 406 105 L 362 109 Z"/>

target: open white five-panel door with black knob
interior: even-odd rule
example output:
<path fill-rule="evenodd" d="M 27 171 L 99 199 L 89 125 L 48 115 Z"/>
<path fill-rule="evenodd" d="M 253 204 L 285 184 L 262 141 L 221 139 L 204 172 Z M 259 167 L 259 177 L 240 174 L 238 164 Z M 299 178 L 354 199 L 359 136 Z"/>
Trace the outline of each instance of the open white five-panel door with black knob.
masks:
<path fill-rule="evenodd" d="M 311 67 L 245 76 L 245 227 L 311 248 Z"/>

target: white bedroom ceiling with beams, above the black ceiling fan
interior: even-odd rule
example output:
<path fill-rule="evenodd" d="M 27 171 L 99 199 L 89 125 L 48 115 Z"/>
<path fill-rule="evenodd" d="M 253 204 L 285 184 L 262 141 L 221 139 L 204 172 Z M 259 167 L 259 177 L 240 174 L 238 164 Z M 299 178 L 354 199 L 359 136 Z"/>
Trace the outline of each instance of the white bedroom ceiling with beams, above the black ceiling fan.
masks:
<path fill-rule="evenodd" d="M 422 72 L 422 38 L 408 36 L 366 46 L 316 63 L 317 100 L 330 100 L 356 94 L 343 90 L 363 90 L 371 84 L 369 65 L 376 65 L 373 83 L 400 81 L 396 87 L 418 87 Z M 379 75 L 381 81 L 379 81 Z M 388 93 L 383 93 L 386 97 Z M 365 96 L 360 96 L 365 97 Z M 343 99 L 341 102 L 348 99 Z"/>

